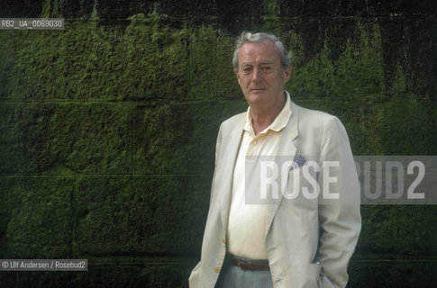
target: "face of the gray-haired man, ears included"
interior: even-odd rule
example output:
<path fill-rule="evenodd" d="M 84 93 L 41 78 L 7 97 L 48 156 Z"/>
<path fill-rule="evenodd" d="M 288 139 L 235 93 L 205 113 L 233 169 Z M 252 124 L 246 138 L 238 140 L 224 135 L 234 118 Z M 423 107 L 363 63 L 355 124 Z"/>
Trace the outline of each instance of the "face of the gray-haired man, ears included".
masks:
<path fill-rule="evenodd" d="M 234 73 L 250 106 L 268 108 L 283 103 L 292 67 L 281 67 L 275 43 L 266 40 L 243 44 L 238 63 L 240 69 L 234 69 Z"/>

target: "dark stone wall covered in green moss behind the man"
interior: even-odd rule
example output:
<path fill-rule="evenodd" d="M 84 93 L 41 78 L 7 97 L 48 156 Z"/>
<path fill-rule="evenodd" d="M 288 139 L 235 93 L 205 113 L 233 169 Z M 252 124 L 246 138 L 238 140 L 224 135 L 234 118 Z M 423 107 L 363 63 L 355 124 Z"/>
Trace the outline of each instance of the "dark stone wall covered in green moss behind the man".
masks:
<path fill-rule="evenodd" d="M 0 258 L 87 258 L 87 273 L 0 286 L 187 287 L 220 123 L 246 109 L 241 31 L 294 53 L 292 100 L 337 115 L 355 155 L 437 154 L 432 1 L 5 1 Z M 437 285 L 435 206 L 362 206 L 351 287 Z"/>

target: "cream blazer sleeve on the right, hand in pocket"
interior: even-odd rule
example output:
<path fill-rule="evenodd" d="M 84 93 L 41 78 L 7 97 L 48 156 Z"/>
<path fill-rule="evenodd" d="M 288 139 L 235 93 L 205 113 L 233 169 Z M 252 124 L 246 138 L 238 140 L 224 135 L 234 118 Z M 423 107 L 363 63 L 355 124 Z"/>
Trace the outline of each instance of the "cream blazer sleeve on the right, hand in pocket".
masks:
<path fill-rule="evenodd" d="M 319 163 L 320 282 L 322 287 L 344 287 L 361 229 L 360 183 L 348 135 L 336 117 L 323 123 Z"/>

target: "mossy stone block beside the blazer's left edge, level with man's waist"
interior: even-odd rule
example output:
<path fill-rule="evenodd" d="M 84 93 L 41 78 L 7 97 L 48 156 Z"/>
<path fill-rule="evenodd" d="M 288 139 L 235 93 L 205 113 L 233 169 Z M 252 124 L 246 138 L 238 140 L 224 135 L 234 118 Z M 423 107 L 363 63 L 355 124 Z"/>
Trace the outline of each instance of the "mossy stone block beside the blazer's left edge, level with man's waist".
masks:
<path fill-rule="evenodd" d="M 199 249 L 208 176 L 143 175 L 77 180 L 78 255 L 163 255 Z"/>

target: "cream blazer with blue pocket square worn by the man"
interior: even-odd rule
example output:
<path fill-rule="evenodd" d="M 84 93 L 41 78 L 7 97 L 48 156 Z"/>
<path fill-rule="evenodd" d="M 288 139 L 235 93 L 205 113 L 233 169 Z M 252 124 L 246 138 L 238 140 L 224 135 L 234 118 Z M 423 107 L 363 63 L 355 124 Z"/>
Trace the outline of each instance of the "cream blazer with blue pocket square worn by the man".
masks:
<path fill-rule="evenodd" d="M 339 193 L 340 199 L 322 201 L 321 193 L 313 200 L 298 196 L 269 205 L 265 242 L 273 286 L 344 287 L 361 228 L 360 184 L 349 139 L 338 118 L 293 102 L 291 110 L 278 155 L 294 159 L 301 154 L 320 166 L 323 161 L 340 161 L 329 175 L 337 177 L 330 193 Z M 191 288 L 213 288 L 223 266 L 233 168 L 245 120 L 243 112 L 220 126 L 201 259 L 189 277 Z M 321 186 L 323 173 L 323 169 L 317 173 Z"/>

